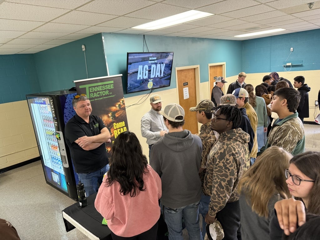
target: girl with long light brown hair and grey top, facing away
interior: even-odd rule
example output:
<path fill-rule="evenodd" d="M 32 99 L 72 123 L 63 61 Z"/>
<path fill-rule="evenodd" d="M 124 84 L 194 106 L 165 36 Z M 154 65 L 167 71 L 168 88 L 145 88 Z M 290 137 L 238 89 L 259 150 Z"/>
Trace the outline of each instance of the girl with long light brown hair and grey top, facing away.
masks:
<path fill-rule="evenodd" d="M 284 169 L 291 158 L 283 148 L 272 146 L 243 174 L 238 185 L 242 239 L 272 239 L 269 225 L 275 215 L 274 204 L 290 197 Z"/>

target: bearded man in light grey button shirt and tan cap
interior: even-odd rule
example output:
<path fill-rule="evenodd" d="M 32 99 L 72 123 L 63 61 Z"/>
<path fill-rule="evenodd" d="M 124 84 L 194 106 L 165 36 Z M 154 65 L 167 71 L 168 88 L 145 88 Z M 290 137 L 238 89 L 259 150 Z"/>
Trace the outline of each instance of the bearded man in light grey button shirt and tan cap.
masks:
<path fill-rule="evenodd" d="M 158 94 L 153 94 L 150 97 L 151 109 L 141 118 L 141 135 L 147 139 L 149 162 L 152 145 L 162 139 L 165 133 L 168 133 L 168 128 L 163 122 L 163 117 L 159 114 L 159 111 L 162 109 L 162 102 Z"/>

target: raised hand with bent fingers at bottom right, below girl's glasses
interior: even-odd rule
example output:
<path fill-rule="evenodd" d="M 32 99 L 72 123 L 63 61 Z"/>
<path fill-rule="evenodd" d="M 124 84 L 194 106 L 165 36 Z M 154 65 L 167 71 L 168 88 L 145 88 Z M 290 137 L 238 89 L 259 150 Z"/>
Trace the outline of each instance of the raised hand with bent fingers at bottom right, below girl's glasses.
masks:
<path fill-rule="evenodd" d="M 290 235 L 296 230 L 297 222 L 301 226 L 306 222 L 306 212 L 303 202 L 293 198 L 276 202 L 275 209 L 280 228 L 285 235 Z"/>

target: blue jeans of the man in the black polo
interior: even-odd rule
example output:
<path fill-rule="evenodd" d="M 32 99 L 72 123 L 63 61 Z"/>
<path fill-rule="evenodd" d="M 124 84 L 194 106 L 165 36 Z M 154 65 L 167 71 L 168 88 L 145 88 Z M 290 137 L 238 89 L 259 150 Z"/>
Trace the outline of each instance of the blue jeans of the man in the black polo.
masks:
<path fill-rule="evenodd" d="M 77 173 L 79 180 L 84 184 L 86 196 L 98 192 L 98 180 L 102 180 L 103 175 L 110 169 L 109 164 L 98 171 L 89 173 Z"/>

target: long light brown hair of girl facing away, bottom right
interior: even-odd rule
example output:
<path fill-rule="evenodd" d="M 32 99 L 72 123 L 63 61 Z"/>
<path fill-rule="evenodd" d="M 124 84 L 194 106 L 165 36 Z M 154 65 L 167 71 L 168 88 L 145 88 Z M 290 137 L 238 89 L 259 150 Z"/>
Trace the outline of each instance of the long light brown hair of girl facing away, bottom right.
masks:
<path fill-rule="evenodd" d="M 252 211 L 259 216 L 268 218 L 268 203 L 275 192 L 283 198 L 290 196 L 284 169 L 289 167 L 291 158 L 292 155 L 283 148 L 272 146 L 267 148 L 242 175 L 238 191 L 245 195 Z"/>

